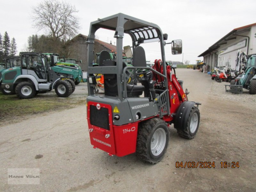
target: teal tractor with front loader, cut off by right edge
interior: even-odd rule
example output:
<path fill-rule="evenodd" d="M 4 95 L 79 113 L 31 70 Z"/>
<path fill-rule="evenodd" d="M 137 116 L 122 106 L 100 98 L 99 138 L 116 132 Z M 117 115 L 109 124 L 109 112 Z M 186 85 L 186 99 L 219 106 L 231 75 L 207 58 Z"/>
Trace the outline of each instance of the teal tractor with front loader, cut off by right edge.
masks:
<path fill-rule="evenodd" d="M 243 74 L 230 81 L 226 86 L 226 92 L 243 93 L 243 88 L 249 90 L 250 94 L 256 94 L 256 54 L 248 55 Z M 230 89 L 227 89 L 227 86 Z"/>

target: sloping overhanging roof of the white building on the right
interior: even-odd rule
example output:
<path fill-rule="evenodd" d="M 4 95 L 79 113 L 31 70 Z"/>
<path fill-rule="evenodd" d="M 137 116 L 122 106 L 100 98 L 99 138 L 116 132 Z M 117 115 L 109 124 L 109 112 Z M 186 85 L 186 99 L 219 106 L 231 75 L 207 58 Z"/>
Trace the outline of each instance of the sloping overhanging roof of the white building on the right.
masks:
<path fill-rule="evenodd" d="M 256 25 L 256 23 L 233 29 L 227 35 L 222 37 L 219 41 L 217 41 L 212 46 L 210 46 L 206 51 L 204 51 L 203 53 L 198 55 L 198 57 L 202 57 L 202 56 L 207 55 L 208 53 L 218 49 L 220 47 L 220 45 L 227 44 L 227 42 L 229 40 L 236 39 L 237 34 L 244 33 L 245 31 L 249 31 L 251 29 L 251 27 L 254 25 Z"/>

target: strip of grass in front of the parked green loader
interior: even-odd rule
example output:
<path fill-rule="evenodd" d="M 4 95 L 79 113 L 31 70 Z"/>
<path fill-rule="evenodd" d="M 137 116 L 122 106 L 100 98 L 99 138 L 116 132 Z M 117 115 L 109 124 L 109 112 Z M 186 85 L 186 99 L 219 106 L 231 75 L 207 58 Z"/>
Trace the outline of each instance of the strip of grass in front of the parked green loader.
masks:
<path fill-rule="evenodd" d="M 85 104 L 85 96 L 60 98 L 55 92 L 38 94 L 32 99 L 19 99 L 17 95 L 4 95 L 0 92 L 0 125 L 15 122 L 32 114 L 69 109 Z"/>

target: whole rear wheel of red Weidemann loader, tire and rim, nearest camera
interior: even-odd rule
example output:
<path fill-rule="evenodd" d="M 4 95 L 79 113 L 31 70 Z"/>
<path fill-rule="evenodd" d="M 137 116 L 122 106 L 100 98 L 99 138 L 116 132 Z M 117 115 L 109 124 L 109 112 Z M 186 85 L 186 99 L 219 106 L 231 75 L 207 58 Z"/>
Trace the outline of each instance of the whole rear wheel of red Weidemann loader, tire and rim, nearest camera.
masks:
<path fill-rule="evenodd" d="M 170 131 L 166 123 L 152 118 L 139 125 L 136 152 L 139 159 L 156 164 L 164 157 Z"/>

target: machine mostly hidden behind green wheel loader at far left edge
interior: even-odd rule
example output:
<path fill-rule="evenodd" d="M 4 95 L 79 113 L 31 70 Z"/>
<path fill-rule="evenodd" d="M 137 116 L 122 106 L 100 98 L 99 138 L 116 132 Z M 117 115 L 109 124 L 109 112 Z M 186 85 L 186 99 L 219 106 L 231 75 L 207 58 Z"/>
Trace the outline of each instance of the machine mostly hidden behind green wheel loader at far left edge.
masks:
<path fill-rule="evenodd" d="M 20 57 L 18 57 L 18 56 L 6 57 L 4 59 L 4 61 L 5 61 L 5 63 L 2 63 L 1 68 L 0 68 L 0 86 L 2 84 L 2 72 L 6 69 L 20 66 Z M 11 95 L 11 94 L 15 93 L 15 92 L 8 91 L 4 88 L 3 89 L 1 88 L 1 91 L 5 95 Z"/>

